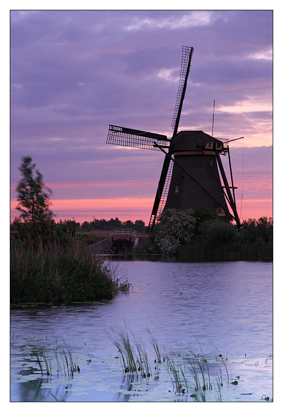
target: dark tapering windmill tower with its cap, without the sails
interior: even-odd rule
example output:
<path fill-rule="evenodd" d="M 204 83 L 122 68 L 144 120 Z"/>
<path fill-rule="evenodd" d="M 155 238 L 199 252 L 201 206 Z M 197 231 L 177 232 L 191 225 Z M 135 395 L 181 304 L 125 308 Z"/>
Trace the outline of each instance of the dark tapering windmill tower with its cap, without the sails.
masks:
<path fill-rule="evenodd" d="M 221 220 L 232 220 L 230 213 L 223 208 L 226 206 L 228 210 L 211 142 L 216 144 L 218 152 L 223 151 L 221 140 L 212 139 L 202 131 L 182 131 L 172 138 L 173 156 L 177 163 L 173 165 L 164 209 L 187 210 L 206 206 Z M 201 186 L 192 180 L 180 166 Z M 213 197 L 204 191 L 203 187 Z"/>

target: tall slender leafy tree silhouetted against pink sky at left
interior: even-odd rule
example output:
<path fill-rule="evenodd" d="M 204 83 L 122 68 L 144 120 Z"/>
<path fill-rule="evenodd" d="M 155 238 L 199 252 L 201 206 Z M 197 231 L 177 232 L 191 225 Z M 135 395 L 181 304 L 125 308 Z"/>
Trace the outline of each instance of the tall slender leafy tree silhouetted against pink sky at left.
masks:
<path fill-rule="evenodd" d="M 16 207 L 24 222 L 41 223 L 50 221 L 55 214 L 49 209 L 51 189 L 43 183 L 43 175 L 35 168 L 30 156 L 23 156 L 19 170 L 23 178 L 18 182 Z"/>

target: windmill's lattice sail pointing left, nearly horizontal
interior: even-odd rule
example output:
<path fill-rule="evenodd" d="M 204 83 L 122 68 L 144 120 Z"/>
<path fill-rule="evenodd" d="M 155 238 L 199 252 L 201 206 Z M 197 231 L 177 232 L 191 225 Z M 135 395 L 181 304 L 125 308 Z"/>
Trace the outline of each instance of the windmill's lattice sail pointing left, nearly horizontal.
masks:
<path fill-rule="evenodd" d="M 128 129 L 126 127 L 109 125 L 106 143 L 118 146 L 139 147 L 148 150 L 160 150 L 153 143 L 163 143 L 163 147 L 169 147 L 170 140 L 165 135 L 158 133 L 143 132 L 142 130 Z"/>

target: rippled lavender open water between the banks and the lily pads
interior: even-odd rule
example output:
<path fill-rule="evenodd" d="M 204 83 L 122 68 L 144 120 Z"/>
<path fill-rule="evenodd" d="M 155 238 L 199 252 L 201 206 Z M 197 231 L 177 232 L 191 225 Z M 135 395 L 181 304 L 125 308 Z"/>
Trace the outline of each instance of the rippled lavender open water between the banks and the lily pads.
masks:
<path fill-rule="evenodd" d="M 50 342 L 63 337 L 73 349 L 85 351 L 86 358 L 88 353 L 115 357 L 118 352 L 109 334 L 128 328 L 146 342 L 149 352 L 148 329 L 172 351 L 186 350 L 189 343 L 200 351 L 200 343 L 207 356 L 223 352 L 235 362 L 246 362 L 248 358 L 259 359 L 261 364 L 263 358 L 271 356 L 271 262 L 143 259 L 119 263 L 118 277 L 125 275 L 133 287 L 113 299 L 13 307 L 12 347 L 18 347 L 23 337 L 47 336 Z M 270 377 L 271 368 L 266 363 L 262 366 Z M 17 387 L 29 383 L 14 385 L 12 401 L 21 401 L 25 395 Z M 99 393 L 77 397 L 70 394 L 66 400 L 101 400 Z M 107 393 L 106 397 L 101 395 L 102 400 L 129 400 Z"/>

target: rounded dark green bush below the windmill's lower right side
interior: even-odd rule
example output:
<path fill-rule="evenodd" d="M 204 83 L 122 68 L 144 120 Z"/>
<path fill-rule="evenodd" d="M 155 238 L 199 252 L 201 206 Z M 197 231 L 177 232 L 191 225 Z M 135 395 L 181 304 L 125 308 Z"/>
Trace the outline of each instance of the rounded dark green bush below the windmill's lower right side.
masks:
<path fill-rule="evenodd" d="M 237 238 L 236 226 L 222 220 L 204 220 L 198 228 L 202 237 L 211 243 L 228 243 Z"/>

